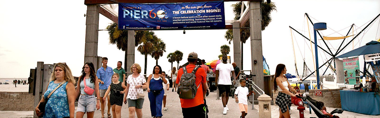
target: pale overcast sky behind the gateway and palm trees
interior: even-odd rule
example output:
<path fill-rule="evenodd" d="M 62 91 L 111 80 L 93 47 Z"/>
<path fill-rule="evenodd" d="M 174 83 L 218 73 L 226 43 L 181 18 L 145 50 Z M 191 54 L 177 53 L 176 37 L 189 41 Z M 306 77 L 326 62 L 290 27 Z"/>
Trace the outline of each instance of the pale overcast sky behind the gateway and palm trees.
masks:
<path fill-rule="evenodd" d="M 328 29 L 321 33 L 323 36 L 330 37 L 345 35 L 353 23 L 356 25 L 354 29 L 357 29 L 354 34 L 357 34 L 367 25 L 367 22 L 380 13 L 380 0 L 272 0 L 272 2 L 277 6 L 277 11 L 272 12 L 272 22 L 262 32 L 263 56 L 272 74 L 276 65 L 282 63 L 287 65 L 289 73 L 296 75 L 289 26 L 309 37 L 305 13 L 312 17 L 314 23 L 326 22 Z M 231 5 L 234 3 L 236 2 L 225 2 L 226 20 L 233 20 Z M 35 68 L 38 61 L 44 64 L 66 62 L 73 71 L 73 75 L 79 76 L 84 62 L 86 17 L 83 14 L 86 14 L 86 10 L 87 6 L 84 5 L 83 0 L 65 2 L 19 0 L 17 3 L 9 0 L 2 1 L 0 4 L 0 16 L 2 16 L 0 19 L 0 78 L 27 78 L 30 68 Z M 105 29 L 108 23 L 111 23 L 111 20 L 100 15 L 99 29 Z M 186 57 L 190 52 L 198 53 L 198 57 L 205 59 L 206 62 L 217 59 L 220 46 L 228 45 L 227 40 L 224 39 L 225 31 L 226 29 L 187 30 L 186 34 L 183 34 L 182 30 L 154 31 L 166 43 L 166 53 L 158 60 L 158 65 L 161 65 L 164 71 L 170 70 L 171 65 L 166 56 L 175 50 L 184 53 L 184 59 L 180 61 L 180 65 L 187 62 Z M 313 34 L 310 35 L 313 39 Z M 379 38 L 379 19 L 377 19 L 354 40 L 354 48 Z M 350 40 L 352 37 L 347 39 Z M 293 40 L 299 73 L 302 73 L 302 58 L 306 59 L 310 70 L 313 70 L 310 42 L 306 42 L 306 39 L 299 34 L 294 34 Z M 330 48 L 337 49 L 341 41 L 328 41 L 328 44 L 332 45 Z M 318 44 L 324 45 L 323 42 L 318 42 Z M 230 47 L 231 52 L 228 56 L 233 58 L 233 45 L 231 44 Z M 325 46 L 322 47 L 326 49 Z M 352 50 L 352 44 L 344 52 L 349 50 Z M 322 51 L 318 53 L 320 53 L 319 58 L 322 59 L 320 64 L 323 64 L 324 59 L 329 59 Z M 135 62 L 143 69 L 144 56 L 137 50 L 135 54 Z M 109 44 L 107 31 L 99 31 L 98 56 L 108 57 L 108 66 L 112 68 L 116 68 L 117 61 L 124 61 L 124 52 L 118 50 L 116 45 Z M 154 65 L 154 58 L 148 56 L 147 74 L 152 73 Z M 174 63 L 173 66 L 177 64 Z M 243 69 L 251 70 L 249 40 L 244 44 Z"/>

